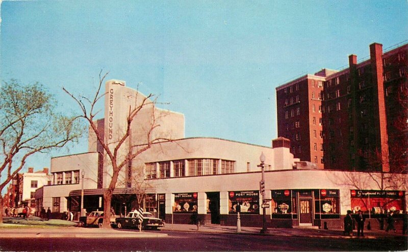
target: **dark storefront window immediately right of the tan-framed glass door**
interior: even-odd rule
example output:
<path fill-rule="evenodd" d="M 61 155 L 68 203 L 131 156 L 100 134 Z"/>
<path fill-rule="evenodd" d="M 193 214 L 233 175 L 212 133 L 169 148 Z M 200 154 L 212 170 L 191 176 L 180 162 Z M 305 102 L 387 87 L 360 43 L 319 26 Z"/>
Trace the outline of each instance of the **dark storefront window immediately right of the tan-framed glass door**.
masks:
<path fill-rule="evenodd" d="M 340 193 L 339 190 L 320 189 L 314 190 L 315 218 L 336 219 L 340 218 Z"/>

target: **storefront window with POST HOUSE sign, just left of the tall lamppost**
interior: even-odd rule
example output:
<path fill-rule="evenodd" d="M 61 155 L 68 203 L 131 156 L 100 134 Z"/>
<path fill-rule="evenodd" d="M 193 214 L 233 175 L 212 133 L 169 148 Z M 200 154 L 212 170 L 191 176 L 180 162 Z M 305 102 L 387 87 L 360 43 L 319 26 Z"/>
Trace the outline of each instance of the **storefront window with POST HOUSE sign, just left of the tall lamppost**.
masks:
<path fill-rule="evenodd" d="M 230 214 L 237 212 L 240 205 L 241 213 L 259 214 L 259 191 L 233 191 L 228 193 Z"/>

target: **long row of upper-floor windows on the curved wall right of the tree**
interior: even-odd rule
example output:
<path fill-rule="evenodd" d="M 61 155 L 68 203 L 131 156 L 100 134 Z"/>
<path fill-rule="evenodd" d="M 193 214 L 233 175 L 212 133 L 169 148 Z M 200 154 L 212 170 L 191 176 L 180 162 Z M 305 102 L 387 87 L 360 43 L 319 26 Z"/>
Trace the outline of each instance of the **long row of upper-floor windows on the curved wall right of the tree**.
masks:
<path fill-rule="evenodd" d="M 172 177 L 234 173 L 235 168 L 235 161 L 219 159 L 188 159 L 187 162 L 186 160 L 174 160 L 146 163 L 146 179 L 170 178 L 171 163 L 173 164 Z"/>

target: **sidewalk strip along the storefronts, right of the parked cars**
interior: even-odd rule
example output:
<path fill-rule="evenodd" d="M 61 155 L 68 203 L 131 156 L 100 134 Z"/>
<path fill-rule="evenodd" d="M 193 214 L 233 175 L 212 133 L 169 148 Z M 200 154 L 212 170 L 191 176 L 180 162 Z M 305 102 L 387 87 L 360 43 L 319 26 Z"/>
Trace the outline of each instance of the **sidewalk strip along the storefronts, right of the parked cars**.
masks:
<path fill-rule="evenodd" d="M 166 223 L 163 231 L 181 231 L 181 232 L 198 232 L 198 233 L 215 233 L 215 234 L 238 234 L 236 226 L 221 226 L 216 224 L 201 225 L 197 230 L 196 225 L 188 224 L 169 224 Z M 342 238 L 342 239 L 377 239 L 377 238 L 393 238 L 393 237 L 406 237 L 402 235 L 401 231 L 385 232 L 381 230 L 376 231 L 364 231 L 364 237 L 358 237 L 357 232 L 354 231 L 354 236 L 343 235 L 342 230 L 321 230 L 310 228 L 293 228 L 293 229 L 274 229 L 269 228 L 267 234 L 261 234 L 261 228 L 253 228 L 248 226 L 241 227 L 241 233 L 243 235 L 269 235 L 269 236 L 293 236 L 293 237 L 326 237 L 326 238 Z"/>

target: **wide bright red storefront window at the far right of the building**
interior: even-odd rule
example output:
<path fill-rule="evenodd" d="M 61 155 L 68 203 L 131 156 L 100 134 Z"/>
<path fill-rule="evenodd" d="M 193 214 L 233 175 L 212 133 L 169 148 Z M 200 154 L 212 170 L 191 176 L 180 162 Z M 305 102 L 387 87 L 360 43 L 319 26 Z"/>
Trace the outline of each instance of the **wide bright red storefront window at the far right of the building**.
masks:
<path fill-rule="evenodd" d="M 405 191 L 350 190 L 351 210 L 364 213 L 402 213 L 405 209 Z"/>

